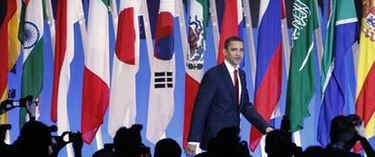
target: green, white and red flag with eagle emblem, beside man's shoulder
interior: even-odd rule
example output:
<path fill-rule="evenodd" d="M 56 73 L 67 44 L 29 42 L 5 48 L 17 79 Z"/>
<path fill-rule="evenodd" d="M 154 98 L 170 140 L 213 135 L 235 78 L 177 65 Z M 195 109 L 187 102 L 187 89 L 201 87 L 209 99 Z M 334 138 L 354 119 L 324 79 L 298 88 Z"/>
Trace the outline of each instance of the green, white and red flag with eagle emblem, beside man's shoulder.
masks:
<path fill-rule="evenodd" d="M 190 2 L 189 47 L 190 53 L 185 55 L 185 110 L 183 146 L 187 144 L 190 131 L 191 114 L 198 93 L 204 69 L 206 53 L 206 27 L 209 20 L 208 0 L 192 0 Z"/>

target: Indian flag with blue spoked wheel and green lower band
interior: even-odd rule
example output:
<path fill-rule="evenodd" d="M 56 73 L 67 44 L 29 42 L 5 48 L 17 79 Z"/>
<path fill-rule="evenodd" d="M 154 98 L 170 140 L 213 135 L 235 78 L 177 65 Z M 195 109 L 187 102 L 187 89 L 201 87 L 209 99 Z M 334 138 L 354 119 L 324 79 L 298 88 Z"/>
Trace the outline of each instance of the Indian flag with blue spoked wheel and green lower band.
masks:
<path fill-rule="evenodd" d="M 21 97 L 37 98 L 43 85 L 43 3 L 42 0 L 24 1 L 24 21 L 20 36 L 23 37 L 23 73 Z M 22 30 L 22 29 L 20 29 Z M 20 111 L 20 124 L 25 122 L 26 110 Z"/>

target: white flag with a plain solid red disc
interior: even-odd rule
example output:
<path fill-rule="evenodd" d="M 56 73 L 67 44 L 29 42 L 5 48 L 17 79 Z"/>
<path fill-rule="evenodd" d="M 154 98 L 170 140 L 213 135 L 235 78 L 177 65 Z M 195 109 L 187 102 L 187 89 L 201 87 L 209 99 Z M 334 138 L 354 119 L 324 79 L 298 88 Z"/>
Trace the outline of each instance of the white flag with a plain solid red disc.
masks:
<path fill-rule="evenodd" d="M 114 137 L 136 118 L 135 76 L 139 67 L 139 16 L 137 0 L 122 0 L 118 20 L 116 53 L 113 58 L 108 131 Z"/>

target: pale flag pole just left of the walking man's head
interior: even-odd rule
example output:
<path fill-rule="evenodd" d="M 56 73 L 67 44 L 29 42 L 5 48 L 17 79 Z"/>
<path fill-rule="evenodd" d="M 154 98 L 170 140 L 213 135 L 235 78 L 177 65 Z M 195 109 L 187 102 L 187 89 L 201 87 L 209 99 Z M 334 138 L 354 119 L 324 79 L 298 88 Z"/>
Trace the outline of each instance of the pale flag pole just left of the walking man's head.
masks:
<path fill-rule="evenodd" d="M 213 37 L 214 37 L 214 48 L 216 54 L 216 60 L 219 57 L 219 24 L 217 20 L 217 12 L 216 12 L 216 1 L 210 0 L 210 15 L 211 15 L 211 22 L 212 22 L 212 29 L 213 29 Z"/>

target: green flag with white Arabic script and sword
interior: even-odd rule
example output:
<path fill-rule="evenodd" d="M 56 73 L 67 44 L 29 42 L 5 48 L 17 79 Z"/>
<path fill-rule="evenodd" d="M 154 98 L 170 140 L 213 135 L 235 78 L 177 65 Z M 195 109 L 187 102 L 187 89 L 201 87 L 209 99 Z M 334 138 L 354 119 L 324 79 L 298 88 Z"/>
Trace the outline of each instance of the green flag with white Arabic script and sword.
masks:
<path fill-rule="evenodd" d="M 303 128 L 309 116 L 308 105 L 315 91 L 314 30 L 318 27 L 313 0 L 293 2 L 292 52 L 288 79 L 286 114 L 291 132 Z"/>

